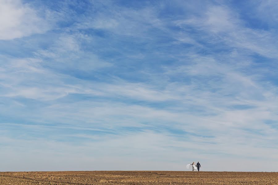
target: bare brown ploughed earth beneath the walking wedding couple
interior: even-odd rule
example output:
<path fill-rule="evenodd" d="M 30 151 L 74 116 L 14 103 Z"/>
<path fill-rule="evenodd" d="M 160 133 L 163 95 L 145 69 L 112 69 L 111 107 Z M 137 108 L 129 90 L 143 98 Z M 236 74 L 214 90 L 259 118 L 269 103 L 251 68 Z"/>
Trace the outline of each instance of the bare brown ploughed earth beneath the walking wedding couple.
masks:
<path fill-rule="evenodd" d="M 278 184 L 278 172 L 55 171 L 0 172 L 0 184 Z"/>

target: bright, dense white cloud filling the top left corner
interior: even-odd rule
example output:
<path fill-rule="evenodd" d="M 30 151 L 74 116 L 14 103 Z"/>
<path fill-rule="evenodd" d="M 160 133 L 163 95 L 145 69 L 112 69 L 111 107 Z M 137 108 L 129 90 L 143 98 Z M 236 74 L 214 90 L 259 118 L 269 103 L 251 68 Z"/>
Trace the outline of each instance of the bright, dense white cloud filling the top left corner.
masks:
<path fill-rule="evenodd" d="M 41 12 L 44 12 L 41 15 Z M 50 30 L 55 22 L 51 18 L 53 12 L 35 10 L 20 0 L 0 1 L 0 39 L 8 40 L 42 34 Z"/>

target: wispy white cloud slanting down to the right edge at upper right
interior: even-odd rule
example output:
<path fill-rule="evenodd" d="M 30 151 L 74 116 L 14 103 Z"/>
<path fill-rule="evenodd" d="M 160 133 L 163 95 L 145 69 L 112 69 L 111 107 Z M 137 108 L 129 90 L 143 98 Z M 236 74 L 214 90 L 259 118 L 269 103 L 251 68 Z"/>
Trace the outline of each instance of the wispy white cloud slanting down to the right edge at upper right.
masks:
<path fill-rule="evenodd" d="M 277 37 L 275 32 L 246 27 L 246 22 L 239 19 L 238 13 L 227 6 L 212 6 L 201 17 L 176 20 L 175 23 L 182 28 L 194 26 L 207 32 L 205 37 L 213 44 L 225 44 L 225 47 L 247 49 L 277 58 L 276 42 L 273 40 Z"/>

